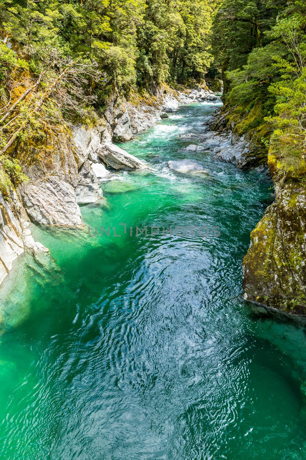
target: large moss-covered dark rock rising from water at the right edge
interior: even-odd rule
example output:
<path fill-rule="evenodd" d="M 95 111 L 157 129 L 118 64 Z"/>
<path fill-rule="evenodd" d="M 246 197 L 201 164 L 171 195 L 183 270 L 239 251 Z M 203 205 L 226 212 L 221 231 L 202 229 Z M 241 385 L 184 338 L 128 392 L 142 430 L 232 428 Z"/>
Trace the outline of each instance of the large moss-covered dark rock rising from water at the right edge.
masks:
<path fill-rule="evenodd" d="M 306 188 L 275 183 L 275 202 L 251 233 L 244 298 L 306 316 Z"/>

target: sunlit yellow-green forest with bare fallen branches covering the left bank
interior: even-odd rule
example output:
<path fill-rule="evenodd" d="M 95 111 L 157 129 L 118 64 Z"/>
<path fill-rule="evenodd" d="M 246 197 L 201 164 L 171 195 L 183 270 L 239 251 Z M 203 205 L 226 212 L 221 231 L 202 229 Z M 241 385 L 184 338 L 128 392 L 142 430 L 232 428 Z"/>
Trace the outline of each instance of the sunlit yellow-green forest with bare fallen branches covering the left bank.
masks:
<path fill-rule="evenodd" d="M 203 79 L 215 10 L 215 0 L 0 0 L 2 191 L 23 179 L 5 168 L 17 142 L 63 119 L 95 121 L 114 87 L 128 96 Z"/>

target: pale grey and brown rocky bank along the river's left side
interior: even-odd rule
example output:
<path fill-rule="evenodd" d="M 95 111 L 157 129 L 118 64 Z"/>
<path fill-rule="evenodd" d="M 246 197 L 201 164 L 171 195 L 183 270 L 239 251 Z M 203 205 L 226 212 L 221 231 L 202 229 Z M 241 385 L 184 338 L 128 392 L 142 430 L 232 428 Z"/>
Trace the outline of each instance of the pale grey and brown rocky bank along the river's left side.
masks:
<path fill-rule="evenodd" d="M 113 142 L 134 138 L 182 104 L 216 98 L 207 89 L 167 87 L 158 90 L 154 104 L 143 98 L 133 104 L 115 89 L 96 126 L 63 126 L 61 132 L 50 131 L 44 145 L 21 144 L 16 156 L 29 181 L 6 200 L 0 194 L 0 283 L 25 250 L 48 252 L 34 242 L 30 222 L 82 228 L 79 205 L 103 199 L 103 182 L 115 178 L 116 171 L 150 167 Z"/>

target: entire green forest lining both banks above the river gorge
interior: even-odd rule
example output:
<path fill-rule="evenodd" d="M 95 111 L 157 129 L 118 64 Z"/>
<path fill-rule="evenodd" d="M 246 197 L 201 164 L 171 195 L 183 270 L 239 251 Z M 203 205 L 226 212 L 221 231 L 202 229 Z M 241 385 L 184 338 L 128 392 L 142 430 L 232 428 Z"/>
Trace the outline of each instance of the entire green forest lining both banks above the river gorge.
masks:
<path fill-rule="evenodd" d="M 263 150 L 271 138 L 278 167 L 298 178 L 305 31 L 303 0 L 0 0 L 1 174 L 24 180 L 16 142 L 94 121 L 115 86 L 128 97 L 217 75 L 241 129 L 259 127 Z"/>

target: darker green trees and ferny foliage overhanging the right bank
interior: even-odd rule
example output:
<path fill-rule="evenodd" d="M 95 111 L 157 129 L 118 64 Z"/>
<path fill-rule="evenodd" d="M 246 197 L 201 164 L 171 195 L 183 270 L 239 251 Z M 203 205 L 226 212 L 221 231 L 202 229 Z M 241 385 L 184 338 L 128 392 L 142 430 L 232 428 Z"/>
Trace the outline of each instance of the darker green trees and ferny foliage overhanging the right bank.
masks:
<path fill-rule="evenodd" d="M 224 0 L 214 18 L 212 50 L 223 100 L 239 113 L 240 128 L 250 129 L 250 119 L 265 134 L 261 146 L 269 148 L 275 172 L 305 181 L 305 1 Z"/>

